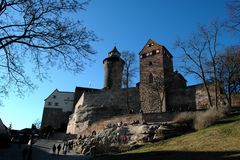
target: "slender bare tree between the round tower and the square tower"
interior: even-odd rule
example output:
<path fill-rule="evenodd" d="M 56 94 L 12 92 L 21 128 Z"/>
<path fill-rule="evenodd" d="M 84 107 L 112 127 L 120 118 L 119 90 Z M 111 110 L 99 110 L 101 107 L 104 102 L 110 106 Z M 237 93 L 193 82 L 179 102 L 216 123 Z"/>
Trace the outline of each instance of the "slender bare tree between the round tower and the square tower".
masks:
<path fill-rule="evenodd" d="M 127 108 L 130 111 L 129 106 L 129 86 L 133 83 L 133 78 L 136 76 L 137 67 L 136 67 L 136 56 L 135 53 L 130 51 L 123 51 L 122 58 L 125 61 L 123 68 L 122 84 L 126 88 L 126 102 Z"/>

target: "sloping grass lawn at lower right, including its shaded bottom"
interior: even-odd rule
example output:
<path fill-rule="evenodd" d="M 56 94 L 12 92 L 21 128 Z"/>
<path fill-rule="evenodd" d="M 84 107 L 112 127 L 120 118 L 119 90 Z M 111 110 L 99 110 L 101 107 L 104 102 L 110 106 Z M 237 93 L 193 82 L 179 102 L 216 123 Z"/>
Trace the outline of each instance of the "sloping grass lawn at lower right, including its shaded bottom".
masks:
<path fill-rule="evenodd" d="M 197 132 L 97 159 L 240 160 L 240 115 Z"/>

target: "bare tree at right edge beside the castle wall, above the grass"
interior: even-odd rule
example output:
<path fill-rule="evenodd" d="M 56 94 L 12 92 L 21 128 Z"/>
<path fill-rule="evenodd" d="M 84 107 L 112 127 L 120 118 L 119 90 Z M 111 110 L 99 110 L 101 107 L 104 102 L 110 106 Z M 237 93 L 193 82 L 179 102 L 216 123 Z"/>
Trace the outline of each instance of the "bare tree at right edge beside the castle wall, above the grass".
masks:
<path fill-rule="evenodd" d="M 232 107 L 232 94 L 240 93 L 240 49 L 236 46 L 226 48 L 217 58 L 217 75 L 221 90 L 229 107 Z"/>

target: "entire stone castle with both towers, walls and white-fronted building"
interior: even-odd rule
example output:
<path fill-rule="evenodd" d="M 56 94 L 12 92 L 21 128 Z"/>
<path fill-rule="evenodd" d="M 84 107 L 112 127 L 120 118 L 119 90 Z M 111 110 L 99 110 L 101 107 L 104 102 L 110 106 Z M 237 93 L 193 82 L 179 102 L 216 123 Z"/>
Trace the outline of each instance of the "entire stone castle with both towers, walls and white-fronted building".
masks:
<path fill-rule="evenodd" d="M 140 51 L 139 59 L 140 83 L 128 90 L 122 88 L 125 62 L 114 47 L 103 60 L 103 89 L 55 90 L 45 99 L 42 127 L 65 128 L 67 133 L 77 134 L 94 122 L 128 114 L 129 108 L 134 113 L 160 113 L 208 107 L 203 85 L 186 85 L 185 78 L 173 70 L 173 56 L 166 47 L 150 39 Z"/>

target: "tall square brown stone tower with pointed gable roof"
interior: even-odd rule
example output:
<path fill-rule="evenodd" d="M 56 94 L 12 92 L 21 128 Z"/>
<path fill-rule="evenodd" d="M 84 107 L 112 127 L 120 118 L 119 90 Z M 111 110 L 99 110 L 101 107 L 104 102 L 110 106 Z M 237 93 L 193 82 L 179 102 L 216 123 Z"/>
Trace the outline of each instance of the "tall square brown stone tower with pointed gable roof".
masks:
<path fill-rule="evenodd" d="M 140 101 L 143 112 L 166 112 L 168 86 L 173 62 L 171 53 L 153 40 L 148 40 L 139 53 Z"/>

